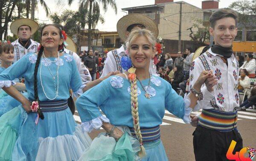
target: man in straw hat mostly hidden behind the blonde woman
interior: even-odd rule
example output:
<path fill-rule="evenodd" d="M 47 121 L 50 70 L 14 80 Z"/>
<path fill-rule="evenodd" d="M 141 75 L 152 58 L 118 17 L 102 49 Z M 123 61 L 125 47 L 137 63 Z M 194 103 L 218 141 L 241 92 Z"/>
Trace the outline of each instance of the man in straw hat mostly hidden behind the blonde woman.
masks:
<path fill-rule="evenodd" d="M 125 42 L 128 38 L 130 32 L 135 29 L 148 29 L 153 32 L 154 36 L 158 36 L 158 28 L 156 23 L 145 16 L 144 14 L 128 14 L 122 17 L 116 24 L 116 29 L 119 34 L 119 37 Z M 126 50 L 127 44 L 123 44 L 119 49 L 114 49 L 107 54 L 107 59 L 105 60 L 105 65 L 102 71 L 101 78 L 107 75 L 109 72 L 119 71 L 120 73 L 125 72 L 121 67 L 121 58 L 124 55 L 128 54 Z M 153 75 L 156 74 L 156 69 L 153 68 L 153 61 L 149 68 L 150 73 Z"/>

